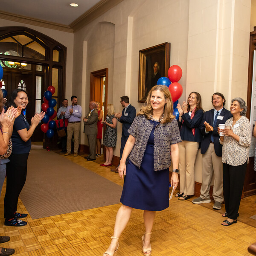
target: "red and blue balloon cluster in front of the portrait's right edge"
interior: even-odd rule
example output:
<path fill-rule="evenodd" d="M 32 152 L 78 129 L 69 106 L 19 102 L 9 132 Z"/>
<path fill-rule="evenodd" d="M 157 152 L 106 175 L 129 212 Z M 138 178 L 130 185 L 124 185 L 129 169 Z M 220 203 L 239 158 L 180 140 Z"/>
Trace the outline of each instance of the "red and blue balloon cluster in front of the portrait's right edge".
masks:
<path fill-rule="evenodd" d="M 168 70 L 168 77 L 160 77 L 160 79 L 157 80 L 157 84 L 166 85 L 172 95 L 172 101 L 173 101 L 173 108 L 175 115 L 175 118 L 179 118 L 179 111 L 176 108 L 177 104 L 179 103 L 180 96 L 183 93 L 182 86 L 177 82 L 180 80 L 182 76 L 182 70 L 179 66 L 173 65 Z"/>

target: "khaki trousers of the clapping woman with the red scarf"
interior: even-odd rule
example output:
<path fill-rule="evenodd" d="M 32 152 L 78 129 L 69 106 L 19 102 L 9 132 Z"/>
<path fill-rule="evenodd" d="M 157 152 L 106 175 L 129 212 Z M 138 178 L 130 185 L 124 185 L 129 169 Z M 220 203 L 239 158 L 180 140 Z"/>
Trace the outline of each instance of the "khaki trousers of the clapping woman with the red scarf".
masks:
<path fill-rule="evenodd" d="M 195 159 L 199 143 L 183 140 L 179 144 L 180 192 L 195 194 Z"/>

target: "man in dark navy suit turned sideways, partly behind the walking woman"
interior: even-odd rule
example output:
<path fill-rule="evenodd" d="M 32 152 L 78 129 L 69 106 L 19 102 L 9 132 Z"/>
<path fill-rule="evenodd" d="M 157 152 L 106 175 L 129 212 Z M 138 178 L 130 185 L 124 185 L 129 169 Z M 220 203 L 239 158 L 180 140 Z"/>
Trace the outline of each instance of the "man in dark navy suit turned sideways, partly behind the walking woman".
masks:
<path fill-rule="evenodd" d="M 125 143 L 128 140 L 129 133 L 128 129 L 130 128 L 135 116 L 136 116 L 136 109 L 129 103 L 128 96 L 122 96 L 121 105 L 123 106 L 122 114 L 115 113 L 115 117 L 118 119 L 120 123 L 122 123 L 122 137 L 121 137 L 121 148 L 120 148 L 120 159 L 122 158 L 122 153 L 125 148 Z M 128 162 L 128 157 L 126 163 Z M 112 172 L 118 173 L 118 166 L 116 169 L 111 169 Z"/>

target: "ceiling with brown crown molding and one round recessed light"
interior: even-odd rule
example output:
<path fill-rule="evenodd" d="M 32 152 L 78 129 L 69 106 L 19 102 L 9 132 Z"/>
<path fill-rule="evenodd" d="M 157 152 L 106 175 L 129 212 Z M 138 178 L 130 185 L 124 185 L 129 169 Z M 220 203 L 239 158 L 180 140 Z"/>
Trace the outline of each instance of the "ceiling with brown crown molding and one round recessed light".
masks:
<path fill-rule="evenodd" d="M 0 18 L 73 32 L 122 0 L 0 0 Z M 70 6 L 77 3 L 78 7 Z"/>

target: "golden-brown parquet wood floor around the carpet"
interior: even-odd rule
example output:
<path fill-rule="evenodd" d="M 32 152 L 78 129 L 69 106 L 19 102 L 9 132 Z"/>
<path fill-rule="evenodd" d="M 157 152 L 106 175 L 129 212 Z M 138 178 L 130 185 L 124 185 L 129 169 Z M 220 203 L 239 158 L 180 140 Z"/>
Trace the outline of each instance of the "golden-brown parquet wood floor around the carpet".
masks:
<path fill-rule="evenodd" d="M 70 155 L 67 158 L 114 183 L 123 183 L 117 174 L 109 168 L 100 167 L 98 163 L 85 161 L 81 156 Z M 4 193 L 5 187 L 0 198 L 1 216 Z M 243 199 L 240 215 L 244 212 L 256 214 L 255 200 L 256 196 Z M 15 248 L 17 256 L 101 256 L 111 241 L 119 207 L 120 204 L 116 204 L 35 220 L 28 216 L 28 224 L 24 227 L 4 226 L 4 219 L 1 218 L 0 236 L 11 236 L 11 240 L 2 246 Z M 28 213 L 20 200 L 18 211 Z M 157 212 L 151 236 L 151 255 L 250 255 L 247 247 L 256 241 L 256 228 L 251 223 L 256 220 L 248 218 L 248 223 L 238 221 L 224 227 L 221 226 L 223 219 L 220 211 L 173 198 L 168 209 Z M 143 232 L 143 211 L 134 209 L 120 237 L 117 256 L 142 256 Z"/>

